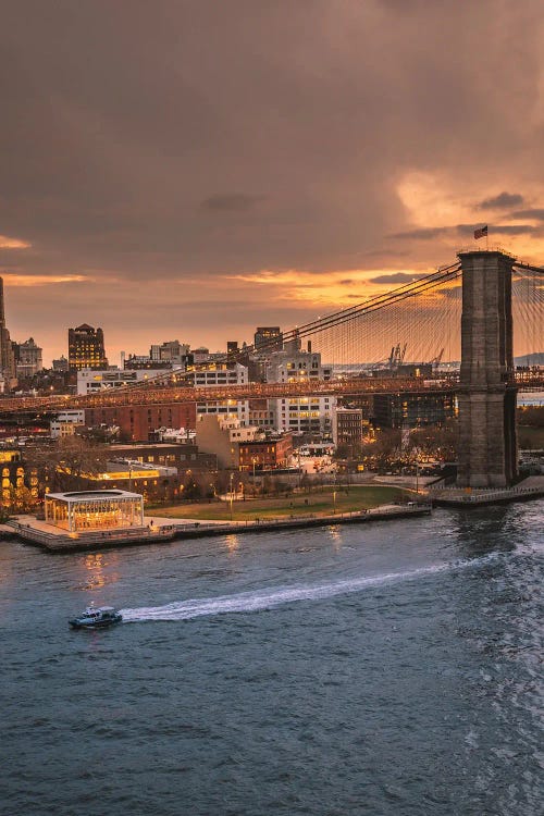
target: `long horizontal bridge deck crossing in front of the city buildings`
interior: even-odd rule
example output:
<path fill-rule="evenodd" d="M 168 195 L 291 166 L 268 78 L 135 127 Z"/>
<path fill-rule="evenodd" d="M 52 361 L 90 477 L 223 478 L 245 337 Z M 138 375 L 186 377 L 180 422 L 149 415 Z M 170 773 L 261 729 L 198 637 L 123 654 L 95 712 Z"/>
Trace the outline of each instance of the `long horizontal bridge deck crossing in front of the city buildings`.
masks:
<path fill-rule="evenodd" d="M 516 383 L 520 390 L 544 388 L 544 371 L 517 372 Z M 133 386 L 85 396 L 52 395 L 48 397 L 5 397 L 0 398 L 0 416 L 24 413 L 54 413 L 69 409 L 107 408 L 115 406 L 169 405 L 182 403 L 232 403 L 246 399 L 298 398 L 310 396 L 358 397 L 374 394 L 396 394 L 411 392 L 430 394 L 456 391 L 456 378 L 421 379 L 413 378 L 354 378 L 350 380 L 319 380 L 297 383 L 248 383 L 247 385 L 187 387 Z"/>

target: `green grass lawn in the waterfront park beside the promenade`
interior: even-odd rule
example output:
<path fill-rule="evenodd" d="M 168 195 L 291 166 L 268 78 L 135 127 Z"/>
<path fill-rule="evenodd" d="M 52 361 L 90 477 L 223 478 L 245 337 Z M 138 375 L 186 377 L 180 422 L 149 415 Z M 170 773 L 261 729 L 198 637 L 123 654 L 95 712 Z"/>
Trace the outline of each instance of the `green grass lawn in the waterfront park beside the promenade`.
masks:
<path fill-rule="evenodd" d="M 233 520 L 246 521 L 256 518 L 279 518 L 282 516 L 330 516 L 334 511 L 353 512 L 370 509 L 379 505 L 406 499 L 410 494 L 398 487 L 353 485 L 349 492 L 337 487 L 333 495 L 332 487 L 316 493 L 296 493 L 288 498 L 248 498 L 246 502 L 233 502 Z M 205 502 L 200 504 L 180 504 L 164 506 L 146 506 L 146 516 L 160 516 L 172 519 L 228 520 L 231 505 L 227 502 Z"/>

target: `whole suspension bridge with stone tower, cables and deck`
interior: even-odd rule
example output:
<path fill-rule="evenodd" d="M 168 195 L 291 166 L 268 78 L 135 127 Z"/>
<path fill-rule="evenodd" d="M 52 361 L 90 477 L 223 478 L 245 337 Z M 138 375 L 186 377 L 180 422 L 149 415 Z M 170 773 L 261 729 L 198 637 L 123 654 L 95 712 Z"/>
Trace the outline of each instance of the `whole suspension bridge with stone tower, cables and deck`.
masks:
<path fill-rule="evenodd" d="M 459 483 L 507 484 L 516 472 L 517 391 L 544 387 L 544 370 L 528 356 L 542 350 L 544 342 L 543 276 L 542 268 L 502 248 L 461 250 L 454 263 L 432 274 L 283 333 L 284 345 L 304 342 L 319 351 L 334 372 L 331 378 L 199 387 L 187 382 L 186 372 L 169 370 L 145 383 L 92 395 L 5 397 L 0 417 L 67 408 L 452 391 L 459 404 Z M 406 349 L 416 368 L 433 363 L 424 376 L 398 375 L 401 366 L 397 375 L 386 375 L 397 358 L 404 360 Z M 245 362 L 252 351 L 244 346 L 224 362 Z M 448 360 L 460 360 L 460 372 L 448 370 Z"/>

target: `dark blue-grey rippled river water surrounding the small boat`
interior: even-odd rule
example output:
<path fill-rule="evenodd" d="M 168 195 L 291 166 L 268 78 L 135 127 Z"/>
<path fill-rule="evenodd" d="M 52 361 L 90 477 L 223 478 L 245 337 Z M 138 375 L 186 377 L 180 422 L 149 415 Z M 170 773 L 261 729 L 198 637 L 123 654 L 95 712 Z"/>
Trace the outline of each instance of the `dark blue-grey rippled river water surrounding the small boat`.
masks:
<path fill-rule="evenodd" d="M 544 502 L 0 542 L 2 816 L 536 816 Z M 125 622 L 73 632 L 95 601 Z"/>

